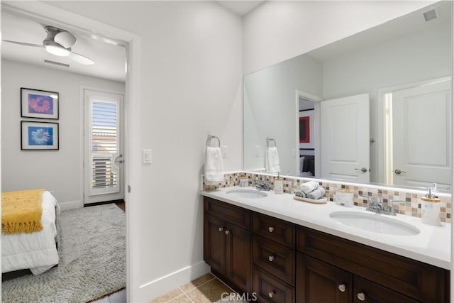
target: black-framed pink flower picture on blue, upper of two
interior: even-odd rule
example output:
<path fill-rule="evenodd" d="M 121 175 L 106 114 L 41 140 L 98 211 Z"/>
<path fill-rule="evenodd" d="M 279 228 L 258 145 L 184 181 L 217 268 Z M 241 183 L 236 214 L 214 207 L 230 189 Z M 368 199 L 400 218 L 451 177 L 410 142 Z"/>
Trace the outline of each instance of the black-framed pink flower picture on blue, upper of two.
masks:
<path fill-rule="evenodd" d="M 58 93 L 21 87 L 21 116 L 58 119 Z"/>

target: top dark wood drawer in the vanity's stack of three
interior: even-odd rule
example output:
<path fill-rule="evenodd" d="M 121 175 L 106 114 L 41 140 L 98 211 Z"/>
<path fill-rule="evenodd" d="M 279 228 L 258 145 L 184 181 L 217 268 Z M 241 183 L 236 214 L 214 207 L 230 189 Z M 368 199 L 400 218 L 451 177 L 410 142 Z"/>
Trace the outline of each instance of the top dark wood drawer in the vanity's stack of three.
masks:
<path fill-rule="evenodd" d="M 254 213 L 253 231 L 289 248 L 295 247 L 295 225 L 287 221 Z"/>

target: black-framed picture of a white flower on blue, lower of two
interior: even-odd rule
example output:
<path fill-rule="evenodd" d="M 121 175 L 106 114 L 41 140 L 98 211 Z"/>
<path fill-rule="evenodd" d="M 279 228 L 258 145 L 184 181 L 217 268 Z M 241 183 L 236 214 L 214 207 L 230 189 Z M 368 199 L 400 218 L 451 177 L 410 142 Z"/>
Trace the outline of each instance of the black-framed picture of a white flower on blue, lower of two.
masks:
<path fill-rule="evenodd" d="M 21 121 L 21 150 L 58 150 L 58 123 Z"/>

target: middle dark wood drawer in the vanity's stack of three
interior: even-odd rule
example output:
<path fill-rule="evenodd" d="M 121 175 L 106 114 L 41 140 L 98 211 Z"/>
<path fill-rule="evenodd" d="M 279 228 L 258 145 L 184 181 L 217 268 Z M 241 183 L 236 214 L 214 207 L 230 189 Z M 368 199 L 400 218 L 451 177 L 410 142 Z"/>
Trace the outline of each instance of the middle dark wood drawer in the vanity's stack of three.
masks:
<path fill-rule="evenodd" d="M 254 235 L 253 260 L 254 265 L 260 266 L 289 285 L 294 285 L 295 251 L 293 249 Z"/>

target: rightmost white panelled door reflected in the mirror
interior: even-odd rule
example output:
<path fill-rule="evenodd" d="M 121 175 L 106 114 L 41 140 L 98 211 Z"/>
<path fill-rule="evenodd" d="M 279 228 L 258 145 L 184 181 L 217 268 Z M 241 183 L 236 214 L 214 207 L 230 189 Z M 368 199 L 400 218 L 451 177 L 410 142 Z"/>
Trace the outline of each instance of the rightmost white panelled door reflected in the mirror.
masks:
<path fill-rule="evenodd" d="M 393 184 L 450 186 L 450 79 L 392 93 Z"/>

